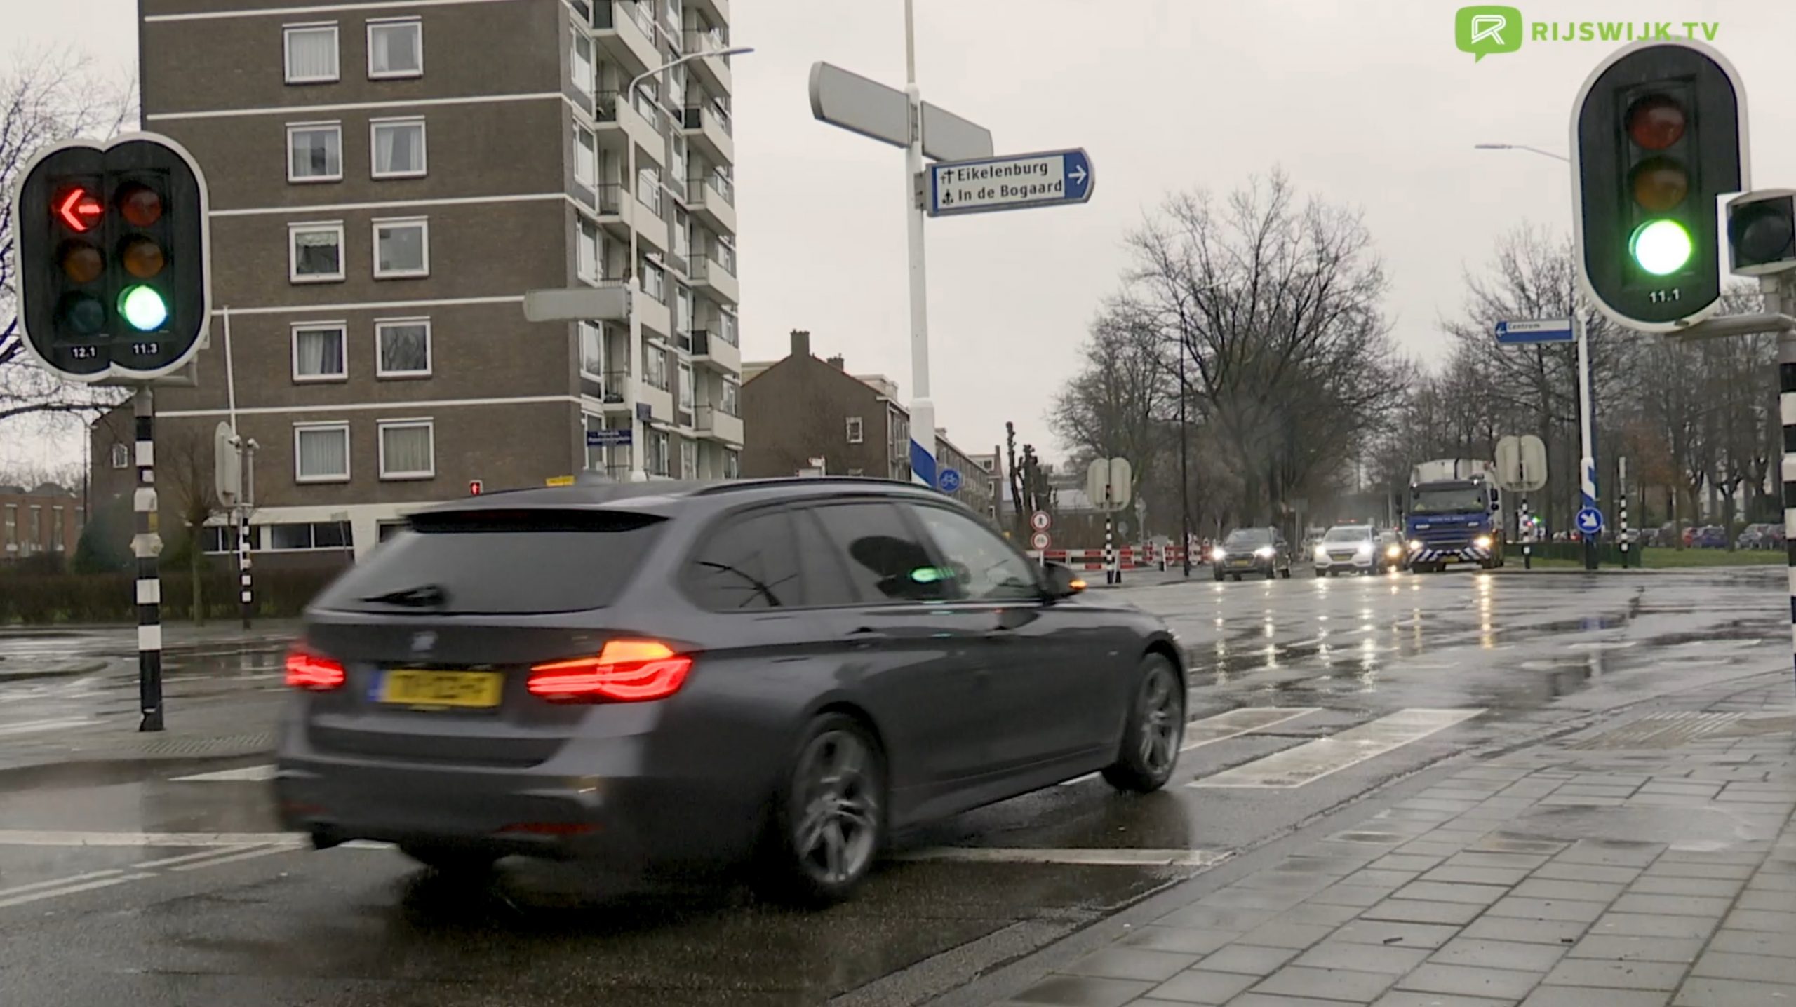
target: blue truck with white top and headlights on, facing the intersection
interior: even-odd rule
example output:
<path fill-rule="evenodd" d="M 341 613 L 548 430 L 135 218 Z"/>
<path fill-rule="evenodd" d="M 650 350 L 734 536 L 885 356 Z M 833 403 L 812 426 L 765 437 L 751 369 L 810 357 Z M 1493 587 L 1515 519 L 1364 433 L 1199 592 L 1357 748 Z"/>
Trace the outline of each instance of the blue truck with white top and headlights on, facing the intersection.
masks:
<path fill-rule="evenodd" d="M 1503 565 L 1503 492 L 1489 461 L 1449 458 L 1417 465 L 1408 503 L 1403 513 L 1408 569 Z"/>

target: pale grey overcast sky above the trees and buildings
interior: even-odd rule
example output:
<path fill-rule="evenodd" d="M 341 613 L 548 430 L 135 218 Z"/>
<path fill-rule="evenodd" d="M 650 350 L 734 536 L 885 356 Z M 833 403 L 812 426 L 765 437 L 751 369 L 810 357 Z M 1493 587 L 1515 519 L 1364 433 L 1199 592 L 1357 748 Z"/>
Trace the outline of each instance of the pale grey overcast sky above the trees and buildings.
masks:
<path fill-rule="evenodd" d="M 131 0 L 5 4 L 11 36 L 83 25 L 102 63 L 135 57 Z M 528 0 L 548 2 L 548 0 Z M 1525 18 L 1719 25 L 1744 77 L 1753 180 L 1796 187 L 1796 4 L 1534 0 Z M 1085 147 L 1085 206 L 927 224 L 938 424 L 963 449 L 1052 443 L 1045 409 L 1078 366 L 1122 235 L 1166 192 L 1227 192 L 1282 165 L 1297 187 L 1358 206 L 1392 280 L 1403 346 L 1435 359 L 1462 271 L 1521 221 L 1568 233 L 1568 165 L 1478 142 L 1566 151 L 1572 101 L 1615 43 L 1525 43 L 1475 61 L 1455 2 L 916 0 L 923 97 L 991 129 L 997 151 Z M 903 153 L 812 118 L 814 61 L 903 84 L 902 0 L 735 0 L 736 190 L 744 357 L 819 355 L 911 395 Z M 1638 29 L 1636 29 L 1638 31 Z M 1061 445 L 1049 449 L 1058 456 Z M 4 460 L 4 452 L 0 452 Z"/>

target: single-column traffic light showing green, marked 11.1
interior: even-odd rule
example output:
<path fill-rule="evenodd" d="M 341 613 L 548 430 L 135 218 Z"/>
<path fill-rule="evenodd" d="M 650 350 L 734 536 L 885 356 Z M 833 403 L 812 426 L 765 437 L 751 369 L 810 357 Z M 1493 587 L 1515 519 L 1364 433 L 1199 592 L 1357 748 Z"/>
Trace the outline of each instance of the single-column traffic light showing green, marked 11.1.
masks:
<path fill-rule="evenodd" d="M 1620 48 L 1572 113 L 1577 269 L 1615 321 L 1670 332 L 1721 303 L 1715 201 L 1748 187 L 1746 90 L 1686 39 Z"/>

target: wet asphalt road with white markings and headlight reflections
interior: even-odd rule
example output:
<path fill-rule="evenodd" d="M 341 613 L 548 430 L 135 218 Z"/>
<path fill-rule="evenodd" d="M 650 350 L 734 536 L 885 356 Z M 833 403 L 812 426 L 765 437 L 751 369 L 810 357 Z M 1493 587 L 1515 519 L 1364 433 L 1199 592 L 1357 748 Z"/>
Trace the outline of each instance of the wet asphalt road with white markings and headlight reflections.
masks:
<path fill-rule="evenodd" d="M 923 1003 L 1451 756 L 1789 666 L 1780 571 L 1106 598 L 1166 614 L 1191 653 L 1175 784 L 1122 797 L 1072 781 L 957 817 L 905 836 L 857 901 L 823 914 L 532 863 L 472 890 L 383 847 L 311 853 L 275 831 L 259 756 L 0 768 L 0 1003 Z M 7 646 L 0 666 L 18 668 Z M 196 650 L 171 671 L 172 722 L 266 731 L 275 653 Z M 117 734 L 131 709 L 117 664 L 0 680 L 0 749 Z M 57 720 L 79 725 L 41 727 Z"/>

